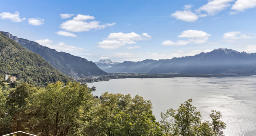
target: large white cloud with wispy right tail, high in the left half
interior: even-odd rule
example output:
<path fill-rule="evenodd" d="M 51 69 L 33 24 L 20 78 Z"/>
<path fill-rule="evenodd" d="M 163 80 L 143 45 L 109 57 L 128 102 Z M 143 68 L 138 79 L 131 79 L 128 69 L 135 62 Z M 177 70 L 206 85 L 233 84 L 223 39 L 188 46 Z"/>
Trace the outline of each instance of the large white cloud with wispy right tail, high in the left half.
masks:
<path fill-rule="evenodd" d="M 113 26 L 116 23 L 100 24 L 100 21 L 87 21 L 95 19 L 94 16 L 78 14 L 72 20 L 67 20 L 60 24 L 60 28 L 71 32 L 84 32 L 91 29 L 104 29 L 108 26 Z"/>

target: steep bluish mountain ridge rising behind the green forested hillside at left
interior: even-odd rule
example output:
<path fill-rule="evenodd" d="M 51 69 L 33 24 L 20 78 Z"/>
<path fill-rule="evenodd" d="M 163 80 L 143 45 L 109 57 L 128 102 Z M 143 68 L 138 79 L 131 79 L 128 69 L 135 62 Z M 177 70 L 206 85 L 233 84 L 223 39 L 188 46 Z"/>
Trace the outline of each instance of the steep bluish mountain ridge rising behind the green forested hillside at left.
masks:
<path fill-rule="evenodd" d="M 41 55 L 52 66 L 60 70 L 60 72 L 71 77 L 107 74 L 99 67 L 97 67 L 95 63 L 91 61 L 89 62 L 85 58 L 74 56 L 66 52 L 58 52 L 54 49 L 41 46 L 34 41 L 13 36 L 9 32 L 3 33 L 9 38 L 15 40 L 21 46 Z"/>

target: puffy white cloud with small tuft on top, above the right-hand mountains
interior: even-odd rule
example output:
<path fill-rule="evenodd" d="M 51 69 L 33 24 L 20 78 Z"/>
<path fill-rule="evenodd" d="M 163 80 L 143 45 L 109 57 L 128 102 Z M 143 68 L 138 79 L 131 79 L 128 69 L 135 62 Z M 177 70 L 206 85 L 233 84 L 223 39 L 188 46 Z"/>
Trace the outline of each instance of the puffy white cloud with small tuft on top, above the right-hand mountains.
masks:
<path fill-rule="evenodd" d="M 175 17 L 178 20 L 194 22 L 198 19 L 198 16 L 190 11 L 192 5 L 184 5 L 184 11 L 176 11 L 172 13 L 170 16 Z"/>

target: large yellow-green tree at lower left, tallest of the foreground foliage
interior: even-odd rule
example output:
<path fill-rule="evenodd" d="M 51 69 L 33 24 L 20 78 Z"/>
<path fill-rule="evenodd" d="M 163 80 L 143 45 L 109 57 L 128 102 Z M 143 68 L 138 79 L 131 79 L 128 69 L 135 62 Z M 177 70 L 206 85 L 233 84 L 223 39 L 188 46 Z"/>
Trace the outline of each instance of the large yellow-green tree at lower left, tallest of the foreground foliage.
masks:
<path fill-rule="evenodd" d="M 27 107 L 31 115 L 27 124 L 33 124 L 29 131 L 45 136 L 81 135 L 91 99 L 87 86 L 80 83 L 47 85 Z"/>

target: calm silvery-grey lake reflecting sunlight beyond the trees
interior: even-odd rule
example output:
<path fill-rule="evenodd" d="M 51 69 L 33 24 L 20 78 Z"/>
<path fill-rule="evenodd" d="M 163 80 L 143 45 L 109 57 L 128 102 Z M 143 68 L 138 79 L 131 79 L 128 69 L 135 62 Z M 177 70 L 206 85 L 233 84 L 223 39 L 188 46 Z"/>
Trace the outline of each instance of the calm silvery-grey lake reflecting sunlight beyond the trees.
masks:
<path fill-rule="evenodd" d="M 221 112 L 226 136 L 256 136 L 256 76 L 113 79 L 88 83 L 92 86 L 94 96 L 108 91 L 151 100 L 156 120 L 161 112 L 192 98 L 202 121 L 211 120 L 211 110 Z"/>

